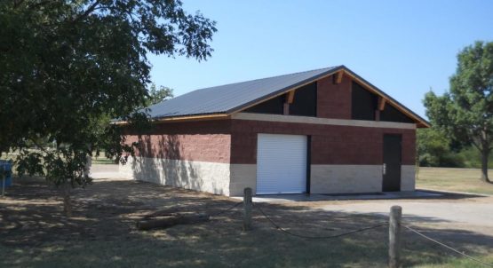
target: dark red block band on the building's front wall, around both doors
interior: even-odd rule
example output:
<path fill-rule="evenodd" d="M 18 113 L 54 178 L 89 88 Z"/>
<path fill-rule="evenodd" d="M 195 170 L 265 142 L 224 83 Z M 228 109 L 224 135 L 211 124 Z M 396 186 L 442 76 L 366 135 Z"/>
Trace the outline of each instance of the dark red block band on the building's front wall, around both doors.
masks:
<path fill-rule="evenodd" d="M 402 164 L 415 163 L 415 130 L 379 129 L 290 122 L 234 120 L 231 162 L 257 163 L 257 134 L 312 136 L 313 164 L 362 164 L 383 162 L 383 135 L 402 134 Z"/>

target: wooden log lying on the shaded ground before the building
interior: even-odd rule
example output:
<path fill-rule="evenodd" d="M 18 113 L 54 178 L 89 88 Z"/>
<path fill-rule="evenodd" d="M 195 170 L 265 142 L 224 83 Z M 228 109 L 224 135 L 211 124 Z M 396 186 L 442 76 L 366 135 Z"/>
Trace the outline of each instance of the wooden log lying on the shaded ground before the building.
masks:
<path fill-rule="evenodd" d="M 168 228 L 174 225 L 192 225 L 209 221 L 207 214 L 179 214 L 174 213 L 165 217 L 142 219 L 137 223 L 139 230 L 151 230 L 155 228 Z"/>

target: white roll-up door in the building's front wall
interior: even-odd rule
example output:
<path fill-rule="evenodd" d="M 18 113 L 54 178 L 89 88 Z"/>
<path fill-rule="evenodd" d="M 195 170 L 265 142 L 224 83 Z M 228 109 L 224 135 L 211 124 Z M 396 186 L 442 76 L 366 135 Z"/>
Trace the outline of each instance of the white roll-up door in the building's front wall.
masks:
<path fill-rule="evenodd" d="M 306 192 L 306 136 L 258 134 L 257 194 Z"/>

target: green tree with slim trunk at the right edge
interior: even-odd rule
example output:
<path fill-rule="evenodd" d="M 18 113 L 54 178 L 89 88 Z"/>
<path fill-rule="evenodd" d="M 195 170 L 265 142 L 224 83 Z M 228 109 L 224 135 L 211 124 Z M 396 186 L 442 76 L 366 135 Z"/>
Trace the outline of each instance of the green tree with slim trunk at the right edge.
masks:
<path fill-rule="evenodd" d="M 493 43 L 476 42 L 457 55 L 457 71 L 450 91 L 426 93 L 426 114 L 433 125 L 463 145 L 481 152 L 481 179 L 488 177 L 493 147 Z"/>

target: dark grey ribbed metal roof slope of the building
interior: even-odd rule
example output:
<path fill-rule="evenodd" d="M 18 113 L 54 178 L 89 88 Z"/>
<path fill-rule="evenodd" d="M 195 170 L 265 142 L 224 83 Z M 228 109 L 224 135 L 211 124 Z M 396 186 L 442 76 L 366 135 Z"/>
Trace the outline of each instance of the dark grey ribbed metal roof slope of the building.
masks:
<path fill-rule="evenodd" d="M 342 67 L 326 67 L 191 91 L 177 98 L 149 106 L 149 114 L 155 119 L 196 114 L 229 114 L 261 99 L 333 73 Z"/>

